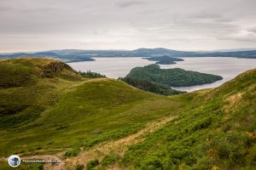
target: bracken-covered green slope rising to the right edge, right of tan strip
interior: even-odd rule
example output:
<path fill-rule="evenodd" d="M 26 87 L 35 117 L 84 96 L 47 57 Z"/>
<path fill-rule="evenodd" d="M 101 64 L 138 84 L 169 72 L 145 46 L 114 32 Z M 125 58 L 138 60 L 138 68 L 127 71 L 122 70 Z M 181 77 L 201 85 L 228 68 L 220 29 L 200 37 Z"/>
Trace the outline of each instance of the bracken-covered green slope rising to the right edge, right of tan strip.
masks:
<path fill-rule="evenodd" d="M 256 167 L 256 70 L 198 91 L 176 122 L 132 145 L 122 162 L 135 169 Z"/>

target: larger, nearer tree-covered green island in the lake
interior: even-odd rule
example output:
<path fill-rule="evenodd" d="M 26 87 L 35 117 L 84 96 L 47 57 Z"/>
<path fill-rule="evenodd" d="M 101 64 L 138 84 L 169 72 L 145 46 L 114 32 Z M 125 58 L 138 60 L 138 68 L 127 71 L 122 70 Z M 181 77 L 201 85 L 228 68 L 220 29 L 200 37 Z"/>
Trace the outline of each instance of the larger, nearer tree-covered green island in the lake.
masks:
<path fill-rule="evenodd" d="M 194 86 L 222 79 L 219 76 L 179 68 L 160 69 L 159 65 L 136 67 L 126 77 L 159 82 L 171 87 Z"/>

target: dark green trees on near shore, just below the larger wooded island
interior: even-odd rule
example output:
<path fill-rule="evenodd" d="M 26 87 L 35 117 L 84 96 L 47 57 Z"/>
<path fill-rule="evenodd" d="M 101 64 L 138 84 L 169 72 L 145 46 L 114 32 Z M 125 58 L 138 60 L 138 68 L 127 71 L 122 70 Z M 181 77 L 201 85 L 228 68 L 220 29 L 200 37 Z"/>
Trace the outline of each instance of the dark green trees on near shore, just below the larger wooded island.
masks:
<path fill-rule="evenodd" d="M 166 85 L 157 83 L 157 82 L 150 82 L 148 80 L 131 78 L 131 77 L 119 77 L 119 80 L 130 84 L 135 88 L 142 89 L 144 91 L 153 92 L 156 94 L 162 95 L 173 95 L 173 94 L 183 94 L 182 91 L 174 90 Z"/>

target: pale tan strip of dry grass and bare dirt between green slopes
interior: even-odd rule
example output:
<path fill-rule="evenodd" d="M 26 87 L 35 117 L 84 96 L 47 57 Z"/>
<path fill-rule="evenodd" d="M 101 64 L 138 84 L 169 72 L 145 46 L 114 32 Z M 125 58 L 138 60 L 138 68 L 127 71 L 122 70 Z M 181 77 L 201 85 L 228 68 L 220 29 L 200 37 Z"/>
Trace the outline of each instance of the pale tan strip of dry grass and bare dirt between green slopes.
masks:
<path fill-rule="evenodd" d="M 130 136 L 127 136 L 123 139 L 98 144 L 95 149 L 81 151 L 79 156 L 70 157 L 66 160 L 61 160 L 61 158 L 64 157 L 64 152 L 60 152 L 56 156 L 21 156 L 21 159 L 60 160 L 60 163 L 45 163 L 44 170 L 65 170 L 73 169 L 78 163 L 85 166 L 86 163 L 91 160 L 98 159 L 99 161 L 102 161 L 103 156 L 108 156 L 110 153 L 122 157 L 131 144 L 142 142 L 145 139 L 146 134 L 154 132 L 155 130 L 165 125 L 167 122 L 171 122 L 176 118 L 177 116 L 167 116 L 156 122 L 148 122 L 148 124 L 137 133 L 131 134 Z M 109 167 L 109 169 L 117 170 L 120 169 L 120 167 L 117 163 L 115 163 L 112 165 L 112 167 Z"/>

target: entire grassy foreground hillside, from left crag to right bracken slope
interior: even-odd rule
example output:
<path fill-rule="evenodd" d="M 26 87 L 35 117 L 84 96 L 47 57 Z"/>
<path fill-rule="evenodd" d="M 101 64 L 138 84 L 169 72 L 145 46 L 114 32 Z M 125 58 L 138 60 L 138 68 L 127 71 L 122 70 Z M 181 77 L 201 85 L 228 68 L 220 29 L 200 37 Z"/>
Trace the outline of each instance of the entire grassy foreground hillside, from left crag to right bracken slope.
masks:
<path fill-rule="evenodd" d="M 0 169 L 253 169 L 256 70 L 218 88 L 162 96 L 54 59 L 0 61 Z M 15 77 L 15 78 L 13 78 Z"/>

